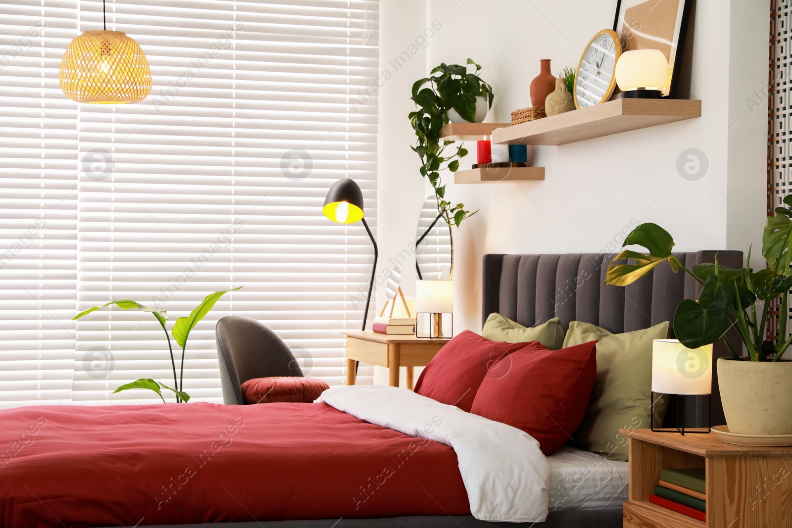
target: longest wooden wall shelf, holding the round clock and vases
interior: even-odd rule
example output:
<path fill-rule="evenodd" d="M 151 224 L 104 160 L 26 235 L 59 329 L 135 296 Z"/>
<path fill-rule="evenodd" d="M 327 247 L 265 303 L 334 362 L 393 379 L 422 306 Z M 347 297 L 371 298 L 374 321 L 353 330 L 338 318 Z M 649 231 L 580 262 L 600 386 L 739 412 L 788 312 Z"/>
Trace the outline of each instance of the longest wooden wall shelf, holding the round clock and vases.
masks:
<path fill-rule="evenodd" d="M 616 99 L 493 131 L 492 141 L 516 145 L 565 145 L 701 116 L 701 101 Z"/>

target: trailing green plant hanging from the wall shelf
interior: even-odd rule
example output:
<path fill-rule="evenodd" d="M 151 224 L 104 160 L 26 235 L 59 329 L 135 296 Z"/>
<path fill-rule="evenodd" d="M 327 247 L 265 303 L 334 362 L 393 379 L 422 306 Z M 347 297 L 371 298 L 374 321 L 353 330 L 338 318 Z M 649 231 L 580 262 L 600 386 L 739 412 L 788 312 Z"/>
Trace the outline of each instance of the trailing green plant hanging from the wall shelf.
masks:
<path fill-rule="evenodd" d="M 468 73 L 467 66 L 443 63 L 433 69 L 429 77 L 418 79 L 413 84 L 413 97 L 410 97 L 417 109 L 409 112 L 409 122 L 417 137 L 417 144 L 412 148 L 421 158 L 421 176 L 428 177 L 435 189 L 438 213 L 443 215 L 448 226 L 457 227 L 475 213 L 466 211 L 463 203 L 452 204 L 445 199 L 440 172 L 447 169 L 455 173 L 459 169 L 459 159 L 467 150 L 460 144 L 451 154 L 446 154 L 446 147 L 453 142 L 440 141 L 440 130 L 448 123 L 449 109 L 453 108 L 464 120 L 473 122 L 476 99 L 486 97 L 488 107 L 492 108 L 495 97 L 492 86 L 478 76 L 482 66 L 473 59 L 467 59 L 467 64 L 475 66 L 474 73 Z"/>

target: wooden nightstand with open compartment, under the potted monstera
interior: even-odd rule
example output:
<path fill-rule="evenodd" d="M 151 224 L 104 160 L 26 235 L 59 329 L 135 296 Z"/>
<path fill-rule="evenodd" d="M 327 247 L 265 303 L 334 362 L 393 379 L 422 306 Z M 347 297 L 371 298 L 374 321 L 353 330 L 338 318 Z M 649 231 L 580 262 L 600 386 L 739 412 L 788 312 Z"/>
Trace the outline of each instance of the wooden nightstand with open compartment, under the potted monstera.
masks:
<path fill-rule="evenodd" d="M 625 528 L 792 526 L 792 447 L 722 443 L 714 433 L 622 430 L 630 439 Z M 706 523 L 649 503 L 661 469 L 706 468 Z"/>

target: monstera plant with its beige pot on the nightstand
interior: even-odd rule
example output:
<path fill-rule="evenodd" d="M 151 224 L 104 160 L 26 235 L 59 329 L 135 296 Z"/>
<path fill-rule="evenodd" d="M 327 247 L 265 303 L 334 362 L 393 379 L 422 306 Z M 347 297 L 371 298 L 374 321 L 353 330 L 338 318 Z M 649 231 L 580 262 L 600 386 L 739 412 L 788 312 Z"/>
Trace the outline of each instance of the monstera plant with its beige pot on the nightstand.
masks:
<path fill-rule="evenodd" d="M 702 289 L 699 300 L 685 299 L 674 313 L 676 338 L 687 348 L 699 348 L 722 339 L 733 327 L 743 350 L 724 340 L 730 358 L 718 359 L 718 382 L 729 431 L 741 435 L 792 434 L 792 362 L 782 354 L 792 344 L 786 337 L 789 291 L 792 287 L 792 195 L 783 199 L 767 218 L 762 237 L 762 255 L 767 269 L 751 267 L 751 251 L 745 267 L 731 269 L 699 264 L 687 269 L 671 251 L 674 241 L 661 226 L 644 223 L 625 239 L 623 246 L 641 245 L 647 253 L 625 250 L 607 268 L 606 284 L 626 286 L 667 261 L 674 272 L 691 275 Z M 634 260 L 615 264 L 618 260 Z M 765 339 L 767 311 L 780 298 L 782 317 L 779 340 Z"/>

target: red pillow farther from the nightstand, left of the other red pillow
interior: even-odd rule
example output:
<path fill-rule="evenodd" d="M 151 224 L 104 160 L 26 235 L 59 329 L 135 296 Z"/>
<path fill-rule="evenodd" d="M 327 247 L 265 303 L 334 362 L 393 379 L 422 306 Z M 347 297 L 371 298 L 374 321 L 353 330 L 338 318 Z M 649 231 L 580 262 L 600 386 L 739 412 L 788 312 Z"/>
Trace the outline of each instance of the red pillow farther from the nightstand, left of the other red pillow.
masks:
<path fill-rule="evenodd" d="M 470 412 L 478 386 L 501 356 L 525 343 L 497 343 L 466 330 L 440 348 L 421 372 L 415 392 Z"/>

